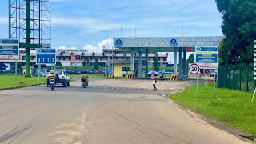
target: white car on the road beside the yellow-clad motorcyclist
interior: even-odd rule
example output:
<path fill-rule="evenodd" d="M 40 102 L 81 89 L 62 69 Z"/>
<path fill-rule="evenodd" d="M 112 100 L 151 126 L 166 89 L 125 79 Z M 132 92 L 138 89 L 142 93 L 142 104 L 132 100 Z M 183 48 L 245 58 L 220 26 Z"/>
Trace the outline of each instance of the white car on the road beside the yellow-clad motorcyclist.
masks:
<path fill-rule="evenodd" d="M 56 84 L 62 84 L 63 87 L 70 86 L 70 75 L 66 72 L 66 70 L 54 70 L 54 74 L 56 74 Z M 47 75 L 47 77 L 49 74 Z"/>

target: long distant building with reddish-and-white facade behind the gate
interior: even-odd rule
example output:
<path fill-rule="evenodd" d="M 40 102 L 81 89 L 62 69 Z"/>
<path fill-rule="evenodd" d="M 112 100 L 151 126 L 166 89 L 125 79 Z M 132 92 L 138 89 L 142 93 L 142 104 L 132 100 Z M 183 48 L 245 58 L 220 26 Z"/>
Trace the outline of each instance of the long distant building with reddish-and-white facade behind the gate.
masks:
<path fill-rule="evenodd" d="M 73 52 L 71 52 L 73 51 Z M 149 54 L 149 65 L 153 66 L 154 57 L 156 54 Z M 112 50 L 102 50 L 102 53 L 88 53 L 88 52 L 80 52 L 76 50 L 58 50 L 57 51 L 57 61 L 62 62 L 62 66 L 88 66 L 92 65 L 95 62 L 96 58 L 98 58 L 98 63 L 101 66 L 105 66 L 106 62 L 112 63 L 113 61 L 121 62 L 125 60 L 130 60 L 130 51 L 114 49 L 113 54 Z M 20 50 L 19 53 L 20 60 L 18 62 L 26 61 L 26 51 Z M 135 60 L 138 60 L 138 54 L 134 54 Z M 158 60 L 160 66 L 166 66 L 168 64 L 167 61 L 168 53 L 158 54 Z M 0 62 L 14 62 L 14 61 L 0 61 Z M 36 63 L 36 53 L 31 53 L 31 65 L 35 65 Z M 142 66 L 145 66 L 145 54 L 142 54 Z"/>

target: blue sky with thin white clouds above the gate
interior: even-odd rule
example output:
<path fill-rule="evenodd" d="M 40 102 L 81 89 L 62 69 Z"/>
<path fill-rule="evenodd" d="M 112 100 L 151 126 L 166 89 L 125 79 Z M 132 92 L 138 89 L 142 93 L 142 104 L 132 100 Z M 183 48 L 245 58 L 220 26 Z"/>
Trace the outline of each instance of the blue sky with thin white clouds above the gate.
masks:
<path fill-rule="evenodd" d="M 51 0 L 52 46 L 100 51 L 109 38 L 222 35 L 214 0 Z M 8 38 L 8 0 L 0 1 L 0 38 Z"/>

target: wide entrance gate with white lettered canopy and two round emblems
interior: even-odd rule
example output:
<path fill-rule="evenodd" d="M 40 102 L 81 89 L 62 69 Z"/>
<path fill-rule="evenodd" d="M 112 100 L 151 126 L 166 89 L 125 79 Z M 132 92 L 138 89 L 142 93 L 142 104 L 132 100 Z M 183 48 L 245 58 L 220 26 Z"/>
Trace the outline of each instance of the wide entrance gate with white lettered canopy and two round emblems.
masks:
<path fill-rule="evenodd" d="M 130 70 L 134 70 L 134 53 L 139 54 L 138 77 L 142 77 L 142 53 L 146 54 L 146 74 L 148 73 L 148 54 L 157 52 L 174 52 L 174 74 L 177 74 L 179 63 L 179 78 L 186 67 L 186 52 L 195 52 L 197 46 L 217 46 L 225 38 L 214 37 L 164 37 L 164 38 L 113 38 L 114 47 L 130 51 Z M 183 53 L 183 62 L 182 62 Z M 178 58 L 178 55 L 179 58 Z M 178 60 L 178 62 L 177 62 Z"/>

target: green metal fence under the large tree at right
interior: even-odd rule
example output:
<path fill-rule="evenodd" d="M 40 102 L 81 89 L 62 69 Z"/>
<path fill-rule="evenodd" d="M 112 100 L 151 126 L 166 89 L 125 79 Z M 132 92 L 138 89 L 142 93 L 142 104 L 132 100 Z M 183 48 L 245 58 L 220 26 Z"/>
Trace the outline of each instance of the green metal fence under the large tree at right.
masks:
<path fill-rule="evenodd" d="M 254 91 L 254 66 L 218 66 L 218 87 Z"/>

